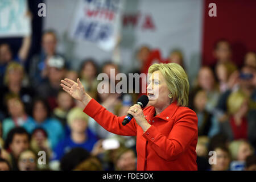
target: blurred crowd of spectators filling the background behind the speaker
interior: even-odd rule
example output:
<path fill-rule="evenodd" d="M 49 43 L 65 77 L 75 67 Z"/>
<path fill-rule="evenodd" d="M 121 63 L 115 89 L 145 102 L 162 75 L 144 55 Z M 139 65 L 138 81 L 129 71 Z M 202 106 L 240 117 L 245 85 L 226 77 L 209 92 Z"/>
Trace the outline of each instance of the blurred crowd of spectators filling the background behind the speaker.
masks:
<path fill-rule="evenodd" d="M 140 94 L 101 93 L 98 73 L 110 76 L 115 69 L 117 74 L 119 65 L 86 58 L 72 70 L 56 51 L 56 37 L 54 31 L 44 32 L 42 52 L 30 60 L 26 44 L 18 55 L 9 44 L 0 44 L 0 170 L 136 170 L 136 138 L 103 129 L 61 89 L 60 80 L 80 78 L 86 92 L 118 116 L 126 115 Z M 156 53 L 138 48 L 139 67 L 131 72 L 146 73 Z M 188 107 L 198 117 L 198 169 L 256 170 L 256 53 L 247 52 L 238 68 L 230 43 L 221 39 L 213 55 L 214 65 L 202 65 L 196 79 L 189 80 Z M 181 50 L 158 61 L 189 69 Z"/>

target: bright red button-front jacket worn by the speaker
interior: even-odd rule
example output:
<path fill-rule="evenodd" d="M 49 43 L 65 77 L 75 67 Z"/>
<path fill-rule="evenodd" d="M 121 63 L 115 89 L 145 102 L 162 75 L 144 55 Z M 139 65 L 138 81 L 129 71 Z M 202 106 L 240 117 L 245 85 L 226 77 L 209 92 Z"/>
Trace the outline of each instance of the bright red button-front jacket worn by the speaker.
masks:
<path fill-rule="evenodd" d="M 94 99 L 84 112 L 114 134 L 137 136 L 137 170 L 197 170 L 197 116 L 188 107 L 176 104 L 170 104 L 155 117 L 153 106 L 144 108 L 151 125 L 144 133 L 134 118 L 123 126 L 125 116 L 117 117 Z"/>

